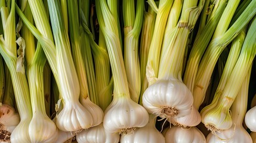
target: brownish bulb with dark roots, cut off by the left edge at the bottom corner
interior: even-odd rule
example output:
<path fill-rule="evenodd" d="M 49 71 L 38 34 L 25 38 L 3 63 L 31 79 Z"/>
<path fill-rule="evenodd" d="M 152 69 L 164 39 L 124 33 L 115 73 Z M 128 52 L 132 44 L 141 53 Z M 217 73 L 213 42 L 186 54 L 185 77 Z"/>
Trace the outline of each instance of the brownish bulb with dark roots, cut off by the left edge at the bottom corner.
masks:
<path fill-rule="evenodd" d="M 10 135 L 20 122 L 20 116 L 10 105 L 0 107 L 0 142 L 10 142 Z"/>

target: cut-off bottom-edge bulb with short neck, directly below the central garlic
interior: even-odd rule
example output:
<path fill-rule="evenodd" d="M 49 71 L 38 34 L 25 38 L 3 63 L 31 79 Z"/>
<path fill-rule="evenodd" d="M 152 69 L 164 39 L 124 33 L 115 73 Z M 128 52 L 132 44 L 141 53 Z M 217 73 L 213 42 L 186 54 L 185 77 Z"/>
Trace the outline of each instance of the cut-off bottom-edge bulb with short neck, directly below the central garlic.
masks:
<path fill-rule="evenodd" d="M 122 143 L 140 143 L 140 142 L 148 142 L 148 143 L 165 143 L 165 138 L 161 132 L 158 131 L 155 127 L 156 117 L 150 115 L 149 123 L 143 128 L 139 128 L 134 130 L 133 133 L 121 135 Z"/>

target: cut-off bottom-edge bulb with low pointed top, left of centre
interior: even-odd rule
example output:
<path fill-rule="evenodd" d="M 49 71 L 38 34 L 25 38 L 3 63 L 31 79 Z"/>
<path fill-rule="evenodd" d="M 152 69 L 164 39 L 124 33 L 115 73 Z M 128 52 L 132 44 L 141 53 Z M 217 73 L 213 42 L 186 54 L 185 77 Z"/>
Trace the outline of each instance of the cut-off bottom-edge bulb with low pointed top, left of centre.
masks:
<path fill-rule="evenodd" d="M 78 141 L 78 143 L 118 143 L 119 139 L 119 133 L 107 132 L 103 127 L 103 123 L 98 126 L 82 130 L 82 132 L 79 132 L 76 135 L 76 141 Z"/>

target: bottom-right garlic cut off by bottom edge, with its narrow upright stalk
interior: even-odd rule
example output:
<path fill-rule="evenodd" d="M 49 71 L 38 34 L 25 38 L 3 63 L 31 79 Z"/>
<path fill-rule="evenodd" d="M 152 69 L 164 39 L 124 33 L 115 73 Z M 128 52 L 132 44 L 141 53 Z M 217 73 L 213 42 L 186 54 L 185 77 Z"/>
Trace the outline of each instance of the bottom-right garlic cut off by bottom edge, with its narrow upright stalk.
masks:
<path fill-rule="evenodd" d="M 249 133 L 243 128 L 243 119 L 245 117 L 247 100 L 248 100 L 248 88 L 249 79 L 251 75 L 251 69 L 249 70 L 242 87 L 232 104 L 232 122 L 231 128 L 226 130 L 220 130 L 220 132 L 209 133 L 206 138 L 207 142 L 251 142 L 252 138 Z"/>

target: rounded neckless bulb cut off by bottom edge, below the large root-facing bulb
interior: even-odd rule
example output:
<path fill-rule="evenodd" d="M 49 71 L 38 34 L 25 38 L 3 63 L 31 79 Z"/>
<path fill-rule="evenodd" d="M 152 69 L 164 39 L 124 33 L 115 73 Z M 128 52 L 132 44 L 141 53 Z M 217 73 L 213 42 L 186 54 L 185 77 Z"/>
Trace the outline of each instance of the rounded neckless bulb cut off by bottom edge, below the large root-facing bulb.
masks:
<path fill-rule="evenodd" d="M 173 126 L 165 133 L 166 143 L 206 143 L 205 136 L 196 127 L 181 128 Z"/>

